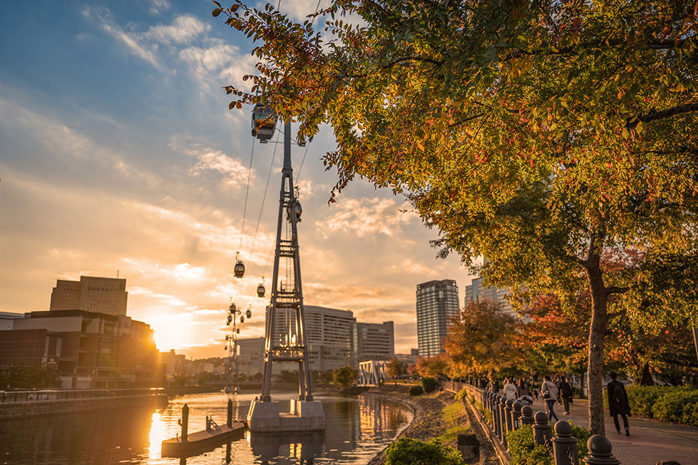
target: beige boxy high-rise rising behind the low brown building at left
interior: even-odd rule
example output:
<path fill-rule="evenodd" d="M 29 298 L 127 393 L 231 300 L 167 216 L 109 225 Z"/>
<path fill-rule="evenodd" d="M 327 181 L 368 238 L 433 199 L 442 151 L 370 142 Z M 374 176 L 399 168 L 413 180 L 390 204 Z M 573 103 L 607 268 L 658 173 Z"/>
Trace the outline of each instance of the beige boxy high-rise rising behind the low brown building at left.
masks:
<path fill-rule="evenodd" d="M 84 310 L 126 315 L 126 280 L 80 276 L 80 281 L 58 280 L 51 293 L 49 310 Z"/>

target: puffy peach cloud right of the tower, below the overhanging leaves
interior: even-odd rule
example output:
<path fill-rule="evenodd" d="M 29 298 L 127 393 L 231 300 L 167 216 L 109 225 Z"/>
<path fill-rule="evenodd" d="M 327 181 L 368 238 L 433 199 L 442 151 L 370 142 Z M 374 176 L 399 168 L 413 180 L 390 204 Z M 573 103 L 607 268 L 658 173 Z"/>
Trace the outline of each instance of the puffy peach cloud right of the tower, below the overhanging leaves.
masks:
<path fill-rule="evenodd" d="M 339 211 L 318 222 L 318 230 L 327 238 L 330 232 L 348 232 L 358 237 L 373 234 L 393 236 L 401 227 L 417 218 L 403 213 L 394 199 L 342 199 Z"/>

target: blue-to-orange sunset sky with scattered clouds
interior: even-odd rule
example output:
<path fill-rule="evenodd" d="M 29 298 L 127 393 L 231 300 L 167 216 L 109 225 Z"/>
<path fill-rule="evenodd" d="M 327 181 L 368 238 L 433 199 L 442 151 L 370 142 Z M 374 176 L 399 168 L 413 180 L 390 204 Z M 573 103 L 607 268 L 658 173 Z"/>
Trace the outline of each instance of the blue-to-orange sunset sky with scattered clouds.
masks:
<path fill-rule="evenodd" d="M 302 18 L 316 4 L 281 10 Z M 231 298 L 252 306 L 241 337 L 264 335 L 269 292 L 255 289 L 262 273 L 270 289 L 281 146 L 255 144 L 248 169 L 251 107 L 229 110 L 221 86 L 254 73 L 254 45 L 213 8 L 1 2 L 0 311 L 48 310 L 56 280 L 118 273 L 128 315 L 161 351 L 224 356 Z M 458 257 L 436 258 L 436 231 L 390 190 L 355 181 L 329 205 L 336 172 L 321 158 L 334 144 L 322 128 L 292 151 L 304 301 L 394 321 L 396 352 L 408 353 L 416 285 L 456 280 L 462 303 L 472 276 Z"/>

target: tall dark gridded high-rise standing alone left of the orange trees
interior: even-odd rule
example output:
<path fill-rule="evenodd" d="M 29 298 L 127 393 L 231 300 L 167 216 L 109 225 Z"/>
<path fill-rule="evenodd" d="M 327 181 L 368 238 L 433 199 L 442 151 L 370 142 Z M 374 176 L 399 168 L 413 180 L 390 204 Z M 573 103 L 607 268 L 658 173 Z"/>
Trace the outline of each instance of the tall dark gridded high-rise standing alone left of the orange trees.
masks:
<path fill-rule="evenodd" d="M 420 357 L 443 353 L 443 340 L 450 319 L 458 314 L 458 287 L 454 280 L 417 284 L 417 344 Z"/>

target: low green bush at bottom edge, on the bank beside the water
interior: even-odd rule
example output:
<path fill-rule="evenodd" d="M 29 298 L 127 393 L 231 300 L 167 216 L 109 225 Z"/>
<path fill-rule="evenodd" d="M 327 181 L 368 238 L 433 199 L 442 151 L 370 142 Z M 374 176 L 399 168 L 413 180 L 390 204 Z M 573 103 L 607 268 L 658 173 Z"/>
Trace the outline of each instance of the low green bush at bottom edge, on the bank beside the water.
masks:
<path fill-rule="evenodd" d="M 419 441 L 400 438 L 385 451 L 386 465 L 464 465 L 461 452 L 438 439 Z"/>

